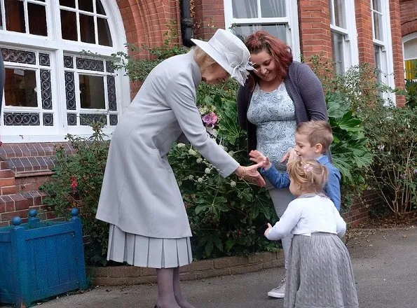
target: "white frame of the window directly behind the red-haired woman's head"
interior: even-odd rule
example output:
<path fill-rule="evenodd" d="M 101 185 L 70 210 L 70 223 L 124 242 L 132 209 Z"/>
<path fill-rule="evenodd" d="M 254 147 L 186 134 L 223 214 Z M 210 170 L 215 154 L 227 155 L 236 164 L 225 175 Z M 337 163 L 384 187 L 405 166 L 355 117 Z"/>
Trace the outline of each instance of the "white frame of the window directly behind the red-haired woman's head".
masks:
<path fill-rule="evenodd" d="M 224 0 L 224 22 L 226 29 L 231 29 L 233 25 L 274 25 L 285 24 L 287 45 L 292 49 L 292 55 L 294 59 L 301 59 L 300 50 L 300 36 L 299 36 L 299 13 L 298 13 L 298 1 L 285 0 L 285 8 L 287 10 L 287 16 L 285 18 L 233 18 L 233 0 Z M 258 1 L 258 15 L 261 15 L 261 6 Z"/>

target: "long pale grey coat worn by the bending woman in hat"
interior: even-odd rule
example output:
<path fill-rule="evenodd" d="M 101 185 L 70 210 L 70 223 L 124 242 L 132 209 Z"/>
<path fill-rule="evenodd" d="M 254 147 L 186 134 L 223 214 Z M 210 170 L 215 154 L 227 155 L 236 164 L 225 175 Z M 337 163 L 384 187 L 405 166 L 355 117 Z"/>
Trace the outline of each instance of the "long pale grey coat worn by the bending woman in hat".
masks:
<path fill-rule="evenodd" d="M 166 156 L 172 144 L 186 137 L 224 177 L 239 166 L 208 137 L 196 106 L 200 82 L 193 51 L 149 73 L 111 138 L 97 219 L 146 237 L 191 236 Z"/>

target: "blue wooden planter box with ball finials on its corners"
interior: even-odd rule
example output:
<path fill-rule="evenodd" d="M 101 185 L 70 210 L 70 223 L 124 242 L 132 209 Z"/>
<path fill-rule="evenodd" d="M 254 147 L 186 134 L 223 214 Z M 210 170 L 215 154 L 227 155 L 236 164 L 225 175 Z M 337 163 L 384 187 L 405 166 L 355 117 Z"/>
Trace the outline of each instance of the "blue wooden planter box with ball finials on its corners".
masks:
<path fill-rule="evenodd" d="M 28 223 L 14 217 L 0 228 L 0 303 L 28 307 L 87 287 L 83 230 L 78 209 L 68 222 L 41 222 L 36 210 Z"/>

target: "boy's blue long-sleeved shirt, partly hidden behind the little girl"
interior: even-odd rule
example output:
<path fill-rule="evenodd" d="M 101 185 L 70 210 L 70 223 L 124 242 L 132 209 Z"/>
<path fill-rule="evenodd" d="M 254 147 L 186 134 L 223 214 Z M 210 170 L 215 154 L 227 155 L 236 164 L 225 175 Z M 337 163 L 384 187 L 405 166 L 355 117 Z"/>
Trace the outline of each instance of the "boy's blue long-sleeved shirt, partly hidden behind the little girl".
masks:
<path fill-rule="evenodd" d="M 331 165 L 329 158 L 323 155 L 317 158 L 317 162 L 320 165 L 326 166 L 329 170 L 329 176 L 327 178 L 326 186 L 324 186 L 324 192 L 327 197 L 333 201 L 336 209 L 341 209 L 341 173 L 339 169 Z M 289 174 L 287 172 L 279 172 L 273 165 L 268 170 L 261 168 L 261 174 L 266 176 L 266 179 L 271 182 L 275 188 L 288 188 L 289 187 Z"/>

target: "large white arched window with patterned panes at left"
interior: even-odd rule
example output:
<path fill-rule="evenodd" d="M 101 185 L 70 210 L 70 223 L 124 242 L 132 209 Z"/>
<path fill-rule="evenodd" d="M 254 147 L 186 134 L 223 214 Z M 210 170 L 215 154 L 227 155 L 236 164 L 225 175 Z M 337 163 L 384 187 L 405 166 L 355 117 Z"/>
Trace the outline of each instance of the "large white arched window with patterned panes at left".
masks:
<path fill-rule="evenodd" d="M 116 1 L 0 0 L 0 8 L 2 141 L 62 141 L 90 134 L 93 120 L 111 133 L 130 101 L 128 79 L 108 61 L 125 50 Z"/>

